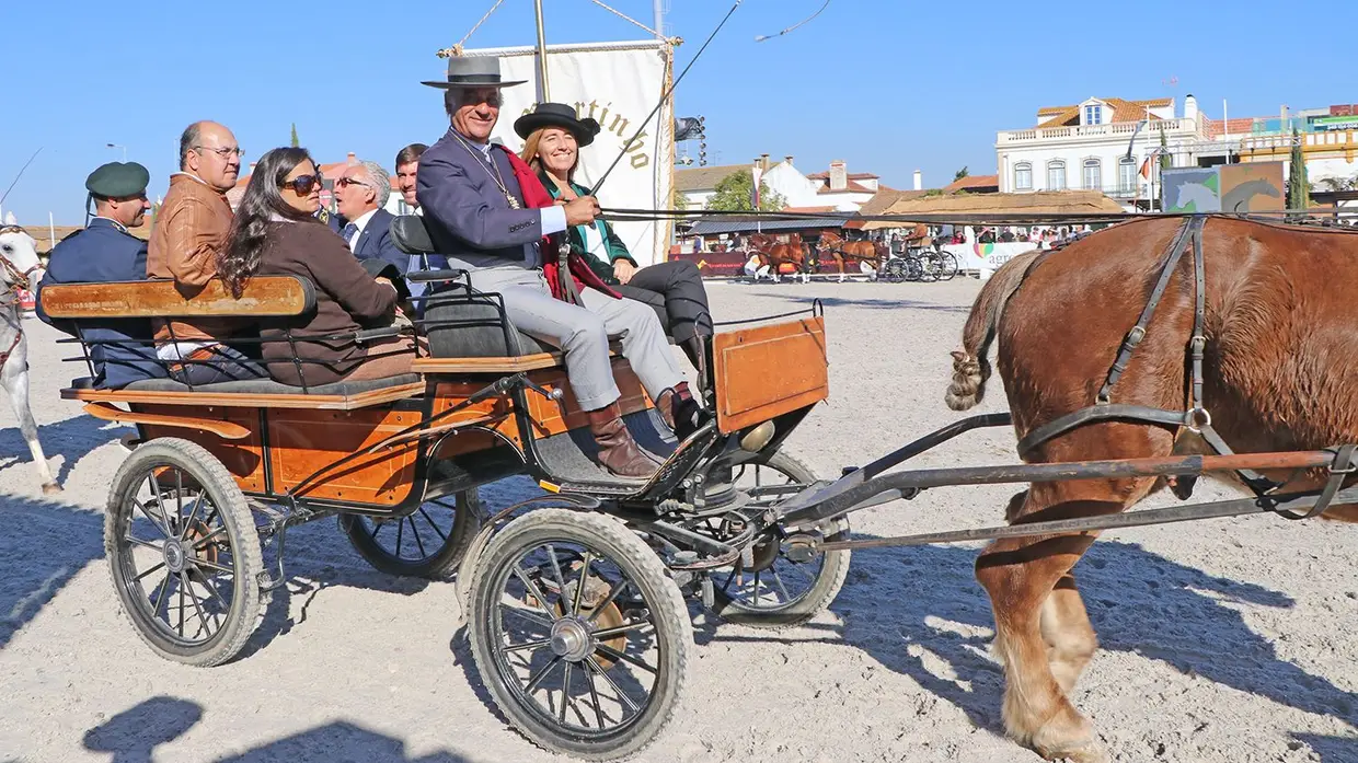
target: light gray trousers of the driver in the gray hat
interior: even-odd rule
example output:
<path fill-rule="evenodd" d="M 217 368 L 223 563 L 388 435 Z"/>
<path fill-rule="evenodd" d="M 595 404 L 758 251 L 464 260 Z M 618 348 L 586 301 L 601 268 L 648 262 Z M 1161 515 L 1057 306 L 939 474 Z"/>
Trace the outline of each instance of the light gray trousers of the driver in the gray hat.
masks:
<path fill-rule="evenodd" d="M 622 356 L 652 399 L 684 382 L 656 312 L 636 300 L 583 289 L 584 307 L 553 299 L 542 270 L 493 267 L 471 273 L 481 292 L 504 296 L 509 320 L 523 333 L 566 353 L 566 376 L 584 410 L 615 402 L 621 392 L 608 362 L 608 337 L 622 338 Z"/>

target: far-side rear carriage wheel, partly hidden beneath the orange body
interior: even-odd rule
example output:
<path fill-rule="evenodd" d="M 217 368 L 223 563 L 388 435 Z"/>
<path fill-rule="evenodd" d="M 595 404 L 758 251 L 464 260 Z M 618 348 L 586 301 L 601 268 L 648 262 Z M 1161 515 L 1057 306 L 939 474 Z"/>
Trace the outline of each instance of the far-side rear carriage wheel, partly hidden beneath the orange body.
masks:
<path fill-rule="evenodd" d="M 360 557 L 380 572 L 407 577 L 452 574 L 479 525 L 475 487 L 429 501 L 399 519 L 340 516 L 340 529 Z"/>

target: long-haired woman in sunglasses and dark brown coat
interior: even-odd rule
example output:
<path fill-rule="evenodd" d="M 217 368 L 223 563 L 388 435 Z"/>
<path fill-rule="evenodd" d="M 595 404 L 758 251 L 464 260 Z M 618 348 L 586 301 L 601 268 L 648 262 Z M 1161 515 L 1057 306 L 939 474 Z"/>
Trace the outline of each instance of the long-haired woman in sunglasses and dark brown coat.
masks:
<path fill-rule="evenodd" d="M 320 172 L 303 148 L 276 148 L 261 156 L 217 272 L 238 297 L 253 276 L 301 276 L 315 285 L 314 312 L 261 324 L 262 354 L 274 380 L 300 386 L 306 379 L 307 386 L 316 386 L 409 373 L 410 338 L 367 346 L 319 339 L 390 324 L 398 300 L 391 281 L 375 280 L 344 239 L 312 216 L 320 208 Z M 288 329 L 295 343 L 285 338 Z M 300 372 L 293 357 L 301 360 Z"/>

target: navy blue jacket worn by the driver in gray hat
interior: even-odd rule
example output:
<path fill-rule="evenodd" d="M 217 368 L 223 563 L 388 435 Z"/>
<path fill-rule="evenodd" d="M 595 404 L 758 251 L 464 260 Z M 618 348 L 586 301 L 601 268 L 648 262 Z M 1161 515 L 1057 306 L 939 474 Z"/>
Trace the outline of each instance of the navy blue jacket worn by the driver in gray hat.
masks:
<path fill-rule="evenodd" d="M 448 257 L 449 267 L 467 270 L 536 262 L 542 212 L 512 209 L 478 147 L 459 138 L 448 128 L 420 156 L 416 198 L 435 250 Z M 490 155 L 498 179 L 521 205 L 523 191 L 504 149 L 492 147 Z"/>

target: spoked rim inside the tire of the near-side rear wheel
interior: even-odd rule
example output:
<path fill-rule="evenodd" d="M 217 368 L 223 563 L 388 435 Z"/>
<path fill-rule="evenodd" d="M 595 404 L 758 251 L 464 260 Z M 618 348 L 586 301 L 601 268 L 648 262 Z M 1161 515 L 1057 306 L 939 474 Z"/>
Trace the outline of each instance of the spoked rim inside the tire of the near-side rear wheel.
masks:
<path fill-rule="evenodd" d="M 115 569 L 133 615 L 175 646 L 210 644 L 231 618 L 239 577 L 223 512 L 172 464 L 149 468 L 125 502 Z"/>

